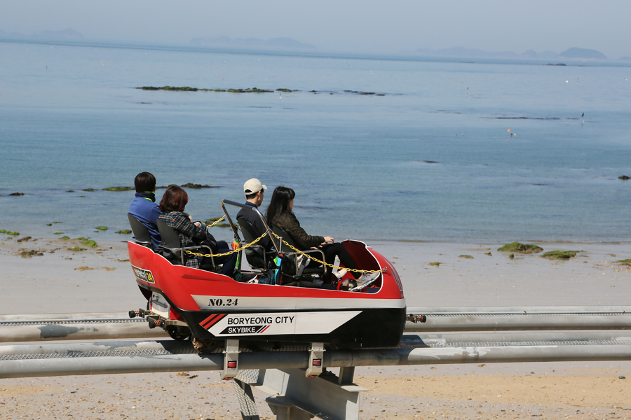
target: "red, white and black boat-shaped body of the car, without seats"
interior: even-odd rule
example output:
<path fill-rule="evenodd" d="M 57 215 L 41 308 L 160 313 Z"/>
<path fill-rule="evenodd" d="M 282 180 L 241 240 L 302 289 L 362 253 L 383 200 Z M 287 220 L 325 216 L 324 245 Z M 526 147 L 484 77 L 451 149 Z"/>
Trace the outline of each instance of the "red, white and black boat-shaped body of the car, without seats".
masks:
<path fill-rule="evenodd" d="M 174 338 L 190 331 L 200 341 L 323 342 L 340 349 L 398 345 L 406 314 L 398 273 L 363 242 L 342 244 L 360 269 L 384 269 L 372 287 L 352 292 L 239 283 L 172 265 L 135 241 L 128 248 L 137 284 L 149 301 L 150 323 Z"/>

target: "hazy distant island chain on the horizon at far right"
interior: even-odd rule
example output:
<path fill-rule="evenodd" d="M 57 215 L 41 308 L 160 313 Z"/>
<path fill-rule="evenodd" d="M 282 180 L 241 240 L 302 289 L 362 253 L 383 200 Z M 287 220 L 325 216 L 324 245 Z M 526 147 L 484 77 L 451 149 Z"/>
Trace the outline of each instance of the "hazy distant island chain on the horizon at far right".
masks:
<path fill-rule="evenodd" d="M 491 52 L 464 47 L 445 48 L 442 50 L 429 50 L 427 48 L 419 48 L 418 50 L 416 50 L 416 53 L 422 55 L 434 55 L 439 57 L 607 59 L 607 57 L 600 51 L 576 47 L 569 48 L 561 52 L 560 54 L 553 51 L 536 52 L 534 50 L 527 50 L 522 54 L 517 54 L 516 52 L 512 51 Z"/>

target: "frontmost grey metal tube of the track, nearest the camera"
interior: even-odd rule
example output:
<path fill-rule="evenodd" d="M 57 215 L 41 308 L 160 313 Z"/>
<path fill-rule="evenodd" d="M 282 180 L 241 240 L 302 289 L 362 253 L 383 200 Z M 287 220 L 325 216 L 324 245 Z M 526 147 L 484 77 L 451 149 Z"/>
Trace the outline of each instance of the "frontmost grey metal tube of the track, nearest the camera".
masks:
<path fill-rule="evenodd" d="M 631 360 L 631 344 L 618 342 L 583 342 L 581 344 L 547 342 L 497 346 L 477 343 L 466 346 L 424 346 L 398 349 L 366 349 L 325 351 L 326 367 L 435 365 L 447 363 L 515 363 L 583 360 Z M 107 344 L 98 344 L 104 346 Z M 163 344 L 148 344 L 152 348 L 135 349 L 127 354 L 121 346 L 141 346 L 140 343 L 121 344 L 114 353 L 96 351 L 84 353 L 14 355 L 0 357 L 0 378 L 44 377 L 84 374 L 121 374 L 144 372 L 176 372 L 182 370 L 222 370 L 222 353 L 177 353 Z M 162 347 L 160 349 L 159 347 Z M 107 353 L 112 354 L 107 356 Z M 239 368 L 277 369 L 305 368 L 308 351 L 253 351 L 239 356 Z"/>

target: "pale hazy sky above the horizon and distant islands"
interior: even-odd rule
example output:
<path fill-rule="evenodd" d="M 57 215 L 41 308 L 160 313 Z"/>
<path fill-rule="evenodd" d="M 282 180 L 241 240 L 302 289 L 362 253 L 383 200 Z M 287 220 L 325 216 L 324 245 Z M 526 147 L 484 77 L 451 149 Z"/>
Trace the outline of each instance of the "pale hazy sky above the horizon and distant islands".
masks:
<path fill-rule="evenodd" d="M 537 52 L 592 48 L 631 56 L 631 1 L 0 0 L 0 29 L 72 28 L 85 38 L 188 43 L 287 36 L 320 50 L 412 52 L 463 46 Z"/>

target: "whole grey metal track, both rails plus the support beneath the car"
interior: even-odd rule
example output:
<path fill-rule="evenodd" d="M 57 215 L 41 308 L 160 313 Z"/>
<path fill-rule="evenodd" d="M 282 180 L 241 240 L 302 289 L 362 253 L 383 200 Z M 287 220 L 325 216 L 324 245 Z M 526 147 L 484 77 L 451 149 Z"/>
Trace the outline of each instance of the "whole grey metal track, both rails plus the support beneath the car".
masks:
<path fill-rule="evenodd" d="M 388 349 L 325 351 L 339 377 L 307 379 L 308 345 L 240 348 L 235 392 L 244 419 L 258 419 L 252 388 L 271 393 L 277 419 L 358 420 L 355 366 L 631 360 L 630 307 L 408 308 L 426 316 L 406 324 Z M 555 332 L 499 332 L 555 330 Z M 565 331 L 564 331 L 565 330 Z M 604 331 L 608 330 L 608 331 Z M 440 333 L 442 331 L 452 331 Z M 458 332 L 463 331 L 463 332 Z M 475 332 L 484 331 L 484 332 Z M 491 332 L 495 331 L 495 332 Z M 0 342 L 163 337 L 127 314 L 0 316 Z M 190 341 L 57 342 L 0 346 L 0 378 L 224 370 L 224 353 L 200 354 Z"/>

